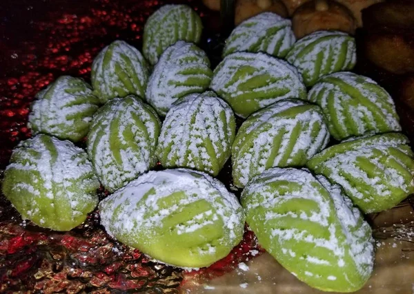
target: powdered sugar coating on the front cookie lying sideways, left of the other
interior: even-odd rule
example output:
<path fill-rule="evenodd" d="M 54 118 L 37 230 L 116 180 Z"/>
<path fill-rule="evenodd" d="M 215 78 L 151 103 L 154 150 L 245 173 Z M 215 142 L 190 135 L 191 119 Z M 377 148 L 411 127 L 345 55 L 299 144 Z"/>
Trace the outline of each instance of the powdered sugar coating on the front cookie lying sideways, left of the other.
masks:
<path fill-rule="evenodd" d="M 173 200 L 174 204 L 166 205 L 171 197 L 178 196 L 179 199 Z M 211 211 L 170 224 L 170 216 L 200 202 L 208 202 L 203 205 Z M 216 236 L 219 239 L 215 242 L 231 248 L 239 242 L 244 229 L 244 213 L 237 198 L 218 180 L 188 169 L 149 171 L 103 200 L 99 207 L 101 223 L 110 235 L 126 244 L 141 244 L 146 248 L 152 246 L 152 242 L 156 243 L 157 238 L 162 238 L 163 229 L 175 232 L 177 238 L 179 235 L 197 236 L 210 222 L 224 224 L 224 233 Z M 114 214 L 114 211 L 118 212 Z M 206 240 L 206 244 L 195 246 L 189 254 L 214 255 L 212 241 Z"/>

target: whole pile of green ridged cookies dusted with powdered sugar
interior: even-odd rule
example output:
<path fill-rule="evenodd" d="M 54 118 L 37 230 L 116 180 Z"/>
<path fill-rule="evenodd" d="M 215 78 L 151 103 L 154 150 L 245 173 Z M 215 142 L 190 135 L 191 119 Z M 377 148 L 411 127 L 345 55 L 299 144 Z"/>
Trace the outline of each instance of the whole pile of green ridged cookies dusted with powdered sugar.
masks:
<path fill-rule="evenodd" d="M 355 65 L 355 40 L 295 40 L 266 12 L 226 40 L 214 71 L 197 47 L 201 19 L 163 6 L 144 56 L 114 41 L 92 87 L 61 76 L 37 94 L 33 138 L 14 149 L 3 193 L 35 224 L 68 231 L 98 205 L 115 239 L 161 262 L 209 266 L 241 240 L 259 243 L 299 280 L 352 292 L 373 271 L 364 213 L 414 192 L 414 154 L 391 96 Z M 235 115 L 245 118 L 238 131 Z M 86 136 L 86 151 L 75 146 Z M 333 137 L 339 143 L 327 147 Z M 231 157 L 239 200 L 213 178 Z M 164 170 L 155 171 L 158 162 Z"/>

